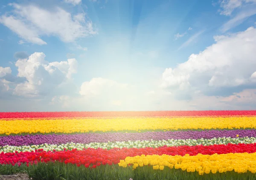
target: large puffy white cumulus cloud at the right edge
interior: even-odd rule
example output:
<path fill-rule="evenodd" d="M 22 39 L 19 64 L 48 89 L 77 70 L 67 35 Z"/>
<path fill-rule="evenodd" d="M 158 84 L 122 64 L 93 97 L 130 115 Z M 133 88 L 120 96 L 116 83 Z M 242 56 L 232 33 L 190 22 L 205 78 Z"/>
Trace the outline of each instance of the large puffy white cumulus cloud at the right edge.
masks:
<path fill-rule="evenodd" d="M 185 63 L 167 68 L 162 88 L 204 91 L 253 85 L 256 71 L 256 29 L 248 28 L 230 36 L 215 38 L 216 43 Z"/>

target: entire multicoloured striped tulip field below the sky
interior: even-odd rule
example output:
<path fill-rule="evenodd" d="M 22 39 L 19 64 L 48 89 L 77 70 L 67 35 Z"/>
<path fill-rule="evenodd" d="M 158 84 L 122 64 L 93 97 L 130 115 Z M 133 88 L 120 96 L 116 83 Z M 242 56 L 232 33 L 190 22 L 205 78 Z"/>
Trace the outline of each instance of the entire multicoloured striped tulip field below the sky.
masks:
<path fill-rule="evenodd" d="M 255 180 L 256 111 L 0 112 L 0 174 Z"/>

